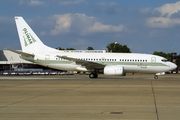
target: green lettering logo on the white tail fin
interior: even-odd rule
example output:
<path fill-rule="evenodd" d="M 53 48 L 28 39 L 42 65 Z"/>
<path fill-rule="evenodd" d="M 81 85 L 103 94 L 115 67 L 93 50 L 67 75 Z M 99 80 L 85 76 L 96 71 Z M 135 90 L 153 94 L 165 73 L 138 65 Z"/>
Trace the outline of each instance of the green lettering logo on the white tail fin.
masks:
<path fill-rule="evenodd" d="M 33 36 L 32 36 L 30 33 L 28 33 L 28 31 L 27 31 L 26 28 L 24 28 L 22 31 L 23 31 L 24 34 L 25 34 L 25 35 L 23 36 L 23 38 L 24 38 L 24 45 L 25 45 L 25 46 L 28 46 L 28 45 L 33 44 L 33 43 L 36 42 L 36 40 L 33 38 Z"/>

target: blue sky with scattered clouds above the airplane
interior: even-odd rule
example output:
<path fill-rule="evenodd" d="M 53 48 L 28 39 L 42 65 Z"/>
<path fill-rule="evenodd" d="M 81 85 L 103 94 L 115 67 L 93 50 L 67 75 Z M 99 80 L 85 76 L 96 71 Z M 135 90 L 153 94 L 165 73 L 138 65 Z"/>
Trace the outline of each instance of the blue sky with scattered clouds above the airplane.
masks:
<path fill-rule="evenodd" d="M 178 0 L 0 0 L 0 50 L 21 50 L 15 16 L 53 48 L 118 42 L 132 53 L 180 54 Z"/>

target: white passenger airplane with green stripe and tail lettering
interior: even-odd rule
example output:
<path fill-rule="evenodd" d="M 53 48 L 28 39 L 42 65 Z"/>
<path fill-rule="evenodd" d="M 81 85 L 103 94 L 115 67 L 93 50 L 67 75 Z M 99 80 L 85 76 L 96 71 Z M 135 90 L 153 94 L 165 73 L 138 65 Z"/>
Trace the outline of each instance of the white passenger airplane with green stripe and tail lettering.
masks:
<path fill-rule="evenodd" d="M 139 53 L 74 53 L 64 52 L 46 46 L 33 32 L 25 20 L 15 17 L 22 51 L 11 50 L 21 58 L 41 66 L 66 70 L 89 72 L 90 78 L 97 78 L 99 71 L 104 75 L 125 76 L 126 73 L 158 74 L 174 70 L 177 65 L 164 57 Z"/>

